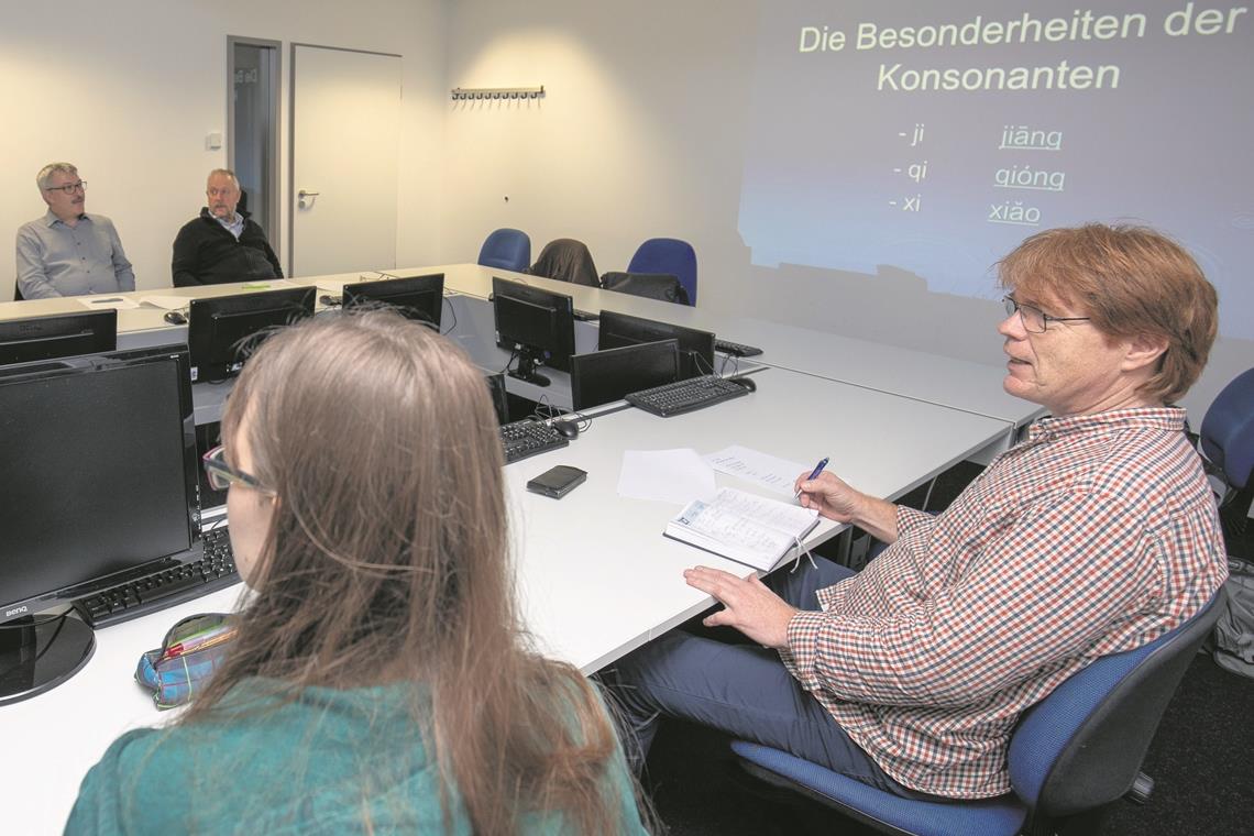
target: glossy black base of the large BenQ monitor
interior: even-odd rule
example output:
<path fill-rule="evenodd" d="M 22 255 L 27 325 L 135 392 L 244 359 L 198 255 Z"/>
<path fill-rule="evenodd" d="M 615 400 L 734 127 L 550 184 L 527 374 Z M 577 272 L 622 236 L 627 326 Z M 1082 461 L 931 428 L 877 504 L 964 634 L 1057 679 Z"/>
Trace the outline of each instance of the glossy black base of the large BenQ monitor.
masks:
<path fill-rule="evenodd" d="M 0 706 L 61 684 L 95 652 L 95 633 L 69 605 L 0 624 Z"/>

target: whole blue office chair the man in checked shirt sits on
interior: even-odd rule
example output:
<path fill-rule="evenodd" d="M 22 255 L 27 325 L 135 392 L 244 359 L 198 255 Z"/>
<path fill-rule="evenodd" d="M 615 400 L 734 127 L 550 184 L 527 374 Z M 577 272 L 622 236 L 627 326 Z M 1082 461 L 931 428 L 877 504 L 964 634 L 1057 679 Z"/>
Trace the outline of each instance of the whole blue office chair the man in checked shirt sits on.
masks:
<path fill-rule="evenodd" d="M 735 741 L 750 773 L 887 833 L 1053 833 L 1126 796 L 1144 803 L 1154 781 L 1141 762 L 1162 711 L 1219 618 L 1223 588 L 1157 639 L 1092 662 L 1020 718 L 1011 737 L 1013 792 L 981 801 L 902 798 L 786 752 Z"/>

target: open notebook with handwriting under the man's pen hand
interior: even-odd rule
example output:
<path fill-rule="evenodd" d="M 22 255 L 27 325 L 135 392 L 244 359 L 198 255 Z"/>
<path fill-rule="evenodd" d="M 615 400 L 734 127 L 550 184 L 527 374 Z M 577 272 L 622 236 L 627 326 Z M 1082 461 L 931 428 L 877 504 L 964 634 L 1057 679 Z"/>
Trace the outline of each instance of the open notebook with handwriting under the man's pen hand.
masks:
<path fill-rule="evenodd" d="M 666 524 L 663 534 L 770 572 L 818 525 L 818 511 L 724 488 L 709 503 L 688 503 Z"/>

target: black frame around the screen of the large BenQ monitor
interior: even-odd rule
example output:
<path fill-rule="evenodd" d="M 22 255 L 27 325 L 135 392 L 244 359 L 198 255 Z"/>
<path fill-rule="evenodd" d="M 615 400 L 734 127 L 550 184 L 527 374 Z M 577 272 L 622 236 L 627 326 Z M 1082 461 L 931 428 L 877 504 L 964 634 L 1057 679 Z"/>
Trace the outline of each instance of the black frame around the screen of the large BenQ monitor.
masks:
<path fill-rule="evenodd" d="M 178 381 L 178 410 L 182 422 L 183 439 L 183 491 L 184 505 L 187 508 L 187 549 L 164 554 L 152 555 L 125 569 L 120 569 L 108 575 L 95 578 L 83 578 L 73 584 L 40 592 L 35 595 L 13 602 L 0 602 L 0 624 L 26 618 L 53 608 L 68 604 L 78 598 L 92 594 L 93 590 L 104 589 L 118 583 L 119 579 L 143 572 L 144 567 L 169 560 L 179 554 L 194 553 L 201 544 L 201 504 L 199 504 L 199 456 L 196 450 L 196 407 L 192 400 L 191 384 L 191 358 L 184 345 L 149 346 L 143 348 L 125 348 L 119 351 L 102 352 L 95 355 L 78 355 L 55 362 L 36 361 L 30 363 L 18 363 L 0 367 L 0 386 L 18 385 L 34 380 L 49 380 L 68 375 L 89 375 L 108 372 L 125 365 L 173 362 Z M 3 593 L 3 589 L 0 589 Z"/>

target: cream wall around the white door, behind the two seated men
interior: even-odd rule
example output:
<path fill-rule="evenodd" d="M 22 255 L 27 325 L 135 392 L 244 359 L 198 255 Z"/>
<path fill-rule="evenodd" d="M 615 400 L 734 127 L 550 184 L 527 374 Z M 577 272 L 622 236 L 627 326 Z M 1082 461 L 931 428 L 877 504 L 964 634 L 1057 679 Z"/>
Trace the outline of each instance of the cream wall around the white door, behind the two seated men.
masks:
<path fill-rule="evenodd" d="M 287 90 L 292 41 L 403 56 L 398 263 L 438 259 L 443 152 L 443 0 L 65 0 L 9 4 L 0 28 L 0 229 L 45 206 L 35 173 L 69 160 L 88 182 L 88 211 L 114 219 L 140 288 L 168 287 L 171 244 L 204 204 L 204 178 L 227 153 L 227 35 L 283 43 L 280 229 L 287 229 Z M 9 238 L 13 241 L 13 238 Z M 277 247 L 286 257 L 286 246 Z M 0 272 L 11 298 L 15 262 Z"/>

